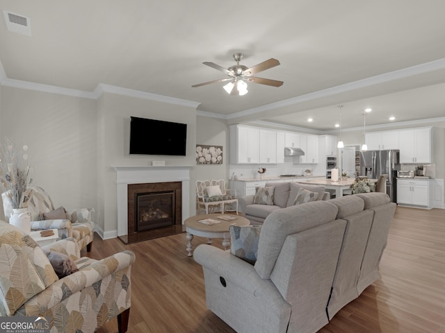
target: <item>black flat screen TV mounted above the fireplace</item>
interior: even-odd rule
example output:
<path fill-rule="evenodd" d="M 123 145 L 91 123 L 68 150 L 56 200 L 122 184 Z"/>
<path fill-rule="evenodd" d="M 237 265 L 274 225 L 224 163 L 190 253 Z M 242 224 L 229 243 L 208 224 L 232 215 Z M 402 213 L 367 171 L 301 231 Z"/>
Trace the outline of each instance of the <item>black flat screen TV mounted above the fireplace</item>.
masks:
<path fill-rule="evenodd" d="M 130 154 L 186 155 L 187 124 L 130 117 Z"/>

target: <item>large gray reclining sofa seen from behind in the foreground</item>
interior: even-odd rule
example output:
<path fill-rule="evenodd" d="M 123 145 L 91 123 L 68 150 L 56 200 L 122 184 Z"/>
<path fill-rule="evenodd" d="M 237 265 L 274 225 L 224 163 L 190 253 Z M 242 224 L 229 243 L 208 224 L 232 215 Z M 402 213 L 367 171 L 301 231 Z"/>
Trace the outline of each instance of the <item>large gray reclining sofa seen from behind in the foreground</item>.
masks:
<path fill-rule="evenodd" d="M 383 193 L 277 210 L 261 227 L 254 265 L 198 246 L 207 307 L 239 333 L 320 330 L 378 279 L 395 210 Z"/>

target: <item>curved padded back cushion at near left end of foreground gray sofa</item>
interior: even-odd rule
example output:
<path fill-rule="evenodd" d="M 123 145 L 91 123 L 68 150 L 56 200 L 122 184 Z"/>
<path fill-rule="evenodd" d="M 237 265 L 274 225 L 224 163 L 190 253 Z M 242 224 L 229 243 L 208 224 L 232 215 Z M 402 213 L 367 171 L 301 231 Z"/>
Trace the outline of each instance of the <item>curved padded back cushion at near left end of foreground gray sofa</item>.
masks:
<path fill-rule="evenodd" d="M 334 221 L 338 209 L 328 201 L 318 200 L 305 205 L 282 208 L 267 216 L 259 235 L 255 270 L 263 279 L 270 278 L 278 255 L 289 234 L 295 234 Z"/>

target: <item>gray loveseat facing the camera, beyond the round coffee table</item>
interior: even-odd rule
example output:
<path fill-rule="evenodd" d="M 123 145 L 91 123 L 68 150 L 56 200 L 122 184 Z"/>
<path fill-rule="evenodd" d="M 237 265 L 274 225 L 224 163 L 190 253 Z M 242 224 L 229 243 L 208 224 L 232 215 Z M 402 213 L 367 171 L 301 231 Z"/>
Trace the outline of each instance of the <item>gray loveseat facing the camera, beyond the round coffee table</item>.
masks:
<path fill-rule="evenodd" d="M 300 188 L 318 193 L 316 200 L 329 200 L 329 192 L 325 192 L 323 185 L 306 185 L 299 182 L 268 182 L 266 187 L 275 187 L 273 191 L 273 205 L 254 203 L 254 195 L 238 198 L 241 214 L 249 219 L 250 224 L 263 224 L 264 219 L 271 212 L 293 206 Z"/>

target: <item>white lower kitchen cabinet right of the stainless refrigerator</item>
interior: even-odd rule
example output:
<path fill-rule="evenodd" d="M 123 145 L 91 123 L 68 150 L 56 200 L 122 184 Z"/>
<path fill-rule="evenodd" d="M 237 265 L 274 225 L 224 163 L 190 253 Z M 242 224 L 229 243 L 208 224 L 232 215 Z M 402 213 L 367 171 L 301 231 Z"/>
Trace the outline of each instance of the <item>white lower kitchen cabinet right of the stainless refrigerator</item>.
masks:
<path fill-rule="evenodd" d="M 397 203 L 431 208 L 430 180 L 397 178 Z"/>

